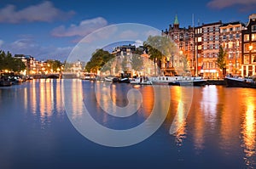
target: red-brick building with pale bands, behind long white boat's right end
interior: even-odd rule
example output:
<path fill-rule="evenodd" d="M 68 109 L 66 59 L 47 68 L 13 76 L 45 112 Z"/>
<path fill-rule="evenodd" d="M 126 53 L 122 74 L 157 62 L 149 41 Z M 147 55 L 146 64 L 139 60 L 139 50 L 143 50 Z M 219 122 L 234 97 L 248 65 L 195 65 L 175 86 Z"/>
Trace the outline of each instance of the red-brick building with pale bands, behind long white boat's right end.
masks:
<path fill-rule="evenodd" d="M 219 28 L 222 25 L 222 21 L 202 24 L 202 52 L 201 52 L 201 62 L 202 69 L 201 74 L 207 78 L 218 78 L 220 70 L 216 64 L 219 51 Z"/>

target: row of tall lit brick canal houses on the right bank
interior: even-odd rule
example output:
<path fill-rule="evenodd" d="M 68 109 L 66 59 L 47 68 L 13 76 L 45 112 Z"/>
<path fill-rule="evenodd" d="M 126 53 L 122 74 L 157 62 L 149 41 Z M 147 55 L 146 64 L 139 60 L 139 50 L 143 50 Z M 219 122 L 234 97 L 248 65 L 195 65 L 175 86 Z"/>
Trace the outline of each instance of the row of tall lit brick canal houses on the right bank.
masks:
<path fill-rule="evenodd" d="M 193 75 L 217 78 L 222 75 L 216 60 L 220 46 L 226 52 L 226 73 L 240 76 L 256 74 L 256 14 L 251 14 L 247 24 L 240 21 L 202 24 L 181 28 L 177 15 L 173 25 L 162 31 L 177 44 L 188 59 Z M 168 70 L 165 65 L 163 70 Z"/>

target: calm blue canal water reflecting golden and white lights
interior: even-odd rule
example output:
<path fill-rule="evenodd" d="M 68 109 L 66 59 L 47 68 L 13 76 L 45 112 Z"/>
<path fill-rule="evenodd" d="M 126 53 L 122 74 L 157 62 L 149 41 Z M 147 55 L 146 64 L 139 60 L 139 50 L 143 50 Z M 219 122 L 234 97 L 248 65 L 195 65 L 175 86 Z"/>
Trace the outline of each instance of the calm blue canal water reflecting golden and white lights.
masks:
<path fill-rule="evenodd" d="M 102 82 L 52 79 L 0 87 L 0 168 L 256 168 L 255 89 L 167 87 L 160 93 L 166 86 L 111 84 L 108 97 L 104 87 Z M 131 89 L 140 94 L 127 97 Z M 102 105 L 108 107 L 109 98 L 119 107 L 139 107 L 129 117 L 106 115 Z M 113 147 L 91 141 L 74 125 L 73 120 L 84 122 L 83 106 L 113 130 L 139 126 L 154 108 L 159 114 L 168 110 L 151 136 Z M 104 141 L 94 127 L 85 130 Z"/>

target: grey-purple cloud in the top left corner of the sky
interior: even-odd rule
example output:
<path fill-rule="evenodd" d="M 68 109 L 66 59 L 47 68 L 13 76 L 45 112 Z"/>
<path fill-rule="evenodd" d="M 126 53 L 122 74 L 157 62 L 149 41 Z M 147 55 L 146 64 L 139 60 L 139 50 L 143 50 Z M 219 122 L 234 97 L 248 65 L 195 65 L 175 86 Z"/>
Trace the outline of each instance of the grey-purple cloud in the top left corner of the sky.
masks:
<path fill-rule="evenodd" d="M 45 1 L 37 5 L 31 5 L 21 10 L 16 10 L 15 5 L 7 5 L 5 8 L 0 8 L 0 22 L 5 23 L 20 23 L 26 22 L 51 22 L 54 20 L 62 20 L 69 18 L 74 14 L 73 11 L 63 12 L 55 8 L 53 3 Z"/>

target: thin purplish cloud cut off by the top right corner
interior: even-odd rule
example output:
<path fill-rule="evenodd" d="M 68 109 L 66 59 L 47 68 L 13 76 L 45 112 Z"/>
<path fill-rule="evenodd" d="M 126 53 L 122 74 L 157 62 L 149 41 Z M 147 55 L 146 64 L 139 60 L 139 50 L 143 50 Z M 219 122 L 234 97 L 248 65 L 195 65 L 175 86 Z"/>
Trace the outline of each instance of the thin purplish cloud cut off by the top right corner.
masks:
<path fill-rule="evenodd" d="M 212 0 L 207 3 L 207 6 L 210 8 L 228 8 L 233 5 L 243 5 L 243 6 L 251 6 L 256 5 L 255 0 Z"/>

